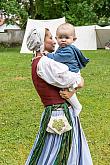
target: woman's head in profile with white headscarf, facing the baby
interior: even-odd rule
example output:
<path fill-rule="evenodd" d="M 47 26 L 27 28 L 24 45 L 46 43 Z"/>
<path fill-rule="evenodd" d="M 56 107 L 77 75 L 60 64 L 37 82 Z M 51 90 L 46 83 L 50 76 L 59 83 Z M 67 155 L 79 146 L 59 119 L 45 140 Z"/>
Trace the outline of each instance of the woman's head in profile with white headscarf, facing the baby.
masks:
<path fill-rule="evenodd" d="M 53 52 L 55 44 L 49 29 L 34 28 L 27 37 L 27 47 L 31 51 Z"/>

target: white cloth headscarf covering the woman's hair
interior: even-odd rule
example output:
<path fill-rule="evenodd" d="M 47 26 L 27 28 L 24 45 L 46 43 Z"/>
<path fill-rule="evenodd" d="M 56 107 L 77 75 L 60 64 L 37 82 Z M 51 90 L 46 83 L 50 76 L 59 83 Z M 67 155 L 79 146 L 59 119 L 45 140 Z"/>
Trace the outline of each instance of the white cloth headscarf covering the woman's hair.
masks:
<path fill-rule="evenodd" d="M 31 29 L 27 37 L 27 48 L 30 51 L 40 51 L 44 50 L 44 37 L 45 37 L 45 28 L 34 28 Z"/>

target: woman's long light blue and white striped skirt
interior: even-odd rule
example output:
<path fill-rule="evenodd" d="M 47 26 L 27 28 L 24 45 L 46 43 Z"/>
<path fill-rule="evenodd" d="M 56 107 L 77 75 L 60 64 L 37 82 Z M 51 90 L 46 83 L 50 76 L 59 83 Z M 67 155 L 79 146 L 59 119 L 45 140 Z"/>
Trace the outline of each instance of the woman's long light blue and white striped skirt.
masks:
<path fill-rule="evenodd" d="M 40 133 L 42 130 L 42 120 L 44 120 L 44 116 L 45 116 L 45 112 L 43 112 L 39 132 L 36 136 L 34 145 L 30 151 L 30 154 L 26 160 L 25 165 L 93 165 L 89 147 L 84 132 L 81 128 L 79 117 L 75 117 L 72 108 L 69 108 L 68 111 L 73 128 L 72 138 L 69 138 L 71 144 L 70 142 L 67 143 L 67 140 L 63 142 L 66 143 L 67 145 L 64 145 L 62 143 L 62 140 L 64 139 L 63 134 L 58 135 L 58 134 L 51 134 L 46 132 L 45 137 L 43 138 L 43 147 L 37 150 L 36 146 L 38 145 L 40 139 Z M 51 115 L 52 116 L 64 115 L 64 110 L 61 108 L 60 110 L 54 110 L 52 111 Z M 62 152 L 63 159 L 59 160 L 58 154 L 61 148 L 64 148 L 64 151 Z M 67 155 L 68 148 L 70 149 L 69 149 L 69 154 Z M 32 162 L 33 155 L 38 154 L 37 152 L 39 152 L 40 149 L 41 152 L 39 156 L 37 155 L 38 159 Z M 61 156 L 62 155 L 59 155 L 59 158 L 61 158 Z"/>

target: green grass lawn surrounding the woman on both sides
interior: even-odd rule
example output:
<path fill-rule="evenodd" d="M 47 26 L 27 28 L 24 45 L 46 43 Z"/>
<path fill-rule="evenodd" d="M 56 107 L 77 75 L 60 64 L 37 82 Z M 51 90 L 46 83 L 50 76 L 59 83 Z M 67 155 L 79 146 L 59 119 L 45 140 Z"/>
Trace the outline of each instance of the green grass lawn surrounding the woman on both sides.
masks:
<path fill-rule="evenodd" d="M 32 55 L 0 49 L 0 165 L 24 165 L 39 128 L 43 105 L 31 80 Z M 83 51 L 85 87 L 80 115 L 94 165 L 110 162 L 110 51 Z"/>

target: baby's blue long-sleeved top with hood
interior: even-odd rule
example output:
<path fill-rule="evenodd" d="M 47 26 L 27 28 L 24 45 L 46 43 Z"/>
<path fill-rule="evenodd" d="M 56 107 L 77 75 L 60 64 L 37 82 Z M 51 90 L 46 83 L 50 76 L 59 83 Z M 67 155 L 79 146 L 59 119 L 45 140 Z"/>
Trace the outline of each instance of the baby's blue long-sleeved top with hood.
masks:
<path fill-rule="evenodd" d="M 76 73 L 89 62 L 89 59 L 84 57 L 82 52 L 74 45 L 68 45 L 64 48 L 59 47 L 55 53 L 48 53 L 47 57 L 66 64 L 70 71 Z"/>

